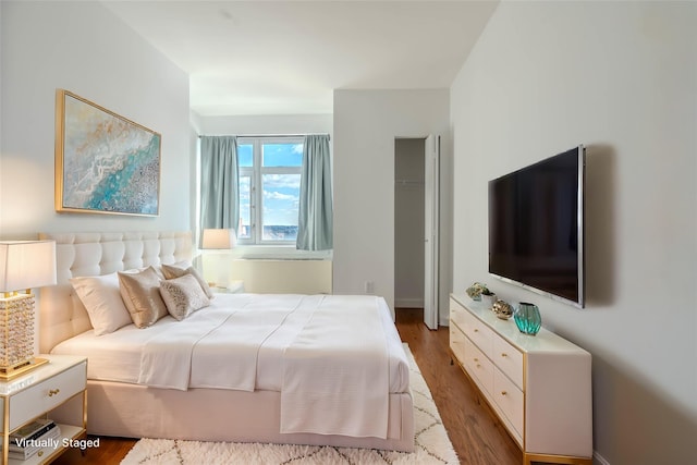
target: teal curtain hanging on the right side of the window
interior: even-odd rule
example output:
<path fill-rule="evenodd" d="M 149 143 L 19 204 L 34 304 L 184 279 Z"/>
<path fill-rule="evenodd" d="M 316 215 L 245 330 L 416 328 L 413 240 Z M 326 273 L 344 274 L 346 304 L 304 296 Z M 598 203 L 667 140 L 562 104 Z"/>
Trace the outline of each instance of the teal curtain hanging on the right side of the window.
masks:
<path fill-rule="evenodd" d="M 331 249 L 333 222 L 329 135 L 307 135 L 303 148 L 296 248 Z"/>

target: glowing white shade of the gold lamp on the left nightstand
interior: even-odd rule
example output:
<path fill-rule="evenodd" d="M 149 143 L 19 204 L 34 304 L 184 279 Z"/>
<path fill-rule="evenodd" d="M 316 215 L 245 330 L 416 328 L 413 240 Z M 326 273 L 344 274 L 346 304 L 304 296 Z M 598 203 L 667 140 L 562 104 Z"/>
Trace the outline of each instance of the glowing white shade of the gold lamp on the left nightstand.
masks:
<path fill-rule="evenodd" d="M 54 241 L 0 242 L 0 292 L 56 284 Z"/>

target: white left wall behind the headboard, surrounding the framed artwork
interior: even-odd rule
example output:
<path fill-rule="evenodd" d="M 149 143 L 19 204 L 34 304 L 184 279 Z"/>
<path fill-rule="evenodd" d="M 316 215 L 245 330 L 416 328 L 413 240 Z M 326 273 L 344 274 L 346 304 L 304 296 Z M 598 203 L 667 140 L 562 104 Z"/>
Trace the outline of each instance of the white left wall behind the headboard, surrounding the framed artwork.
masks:
<path fill-rule="evenodd" d="M 188 76 L 99 2 L 3 0 L 0 8 L 0 238 L 189 229 Z M 162 135 L 159 217 L 54 211 L 57 88 Z"/>

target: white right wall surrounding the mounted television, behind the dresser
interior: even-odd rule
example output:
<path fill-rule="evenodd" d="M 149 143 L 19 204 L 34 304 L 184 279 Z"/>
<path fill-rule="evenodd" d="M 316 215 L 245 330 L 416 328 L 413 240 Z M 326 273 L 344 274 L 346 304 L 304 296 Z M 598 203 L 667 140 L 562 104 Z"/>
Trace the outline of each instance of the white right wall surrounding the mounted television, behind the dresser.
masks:
<path fill-rule="evenodd" d="M 695 24 L 694 2 L 502 2 L 451 88 L 454 289 L 531 298 L 591 352 L 595 449 L 613 465 L 695 460 Z M 489 277 L 486 221 L 487 180 L 580 143 L 583 310 Z"/>

